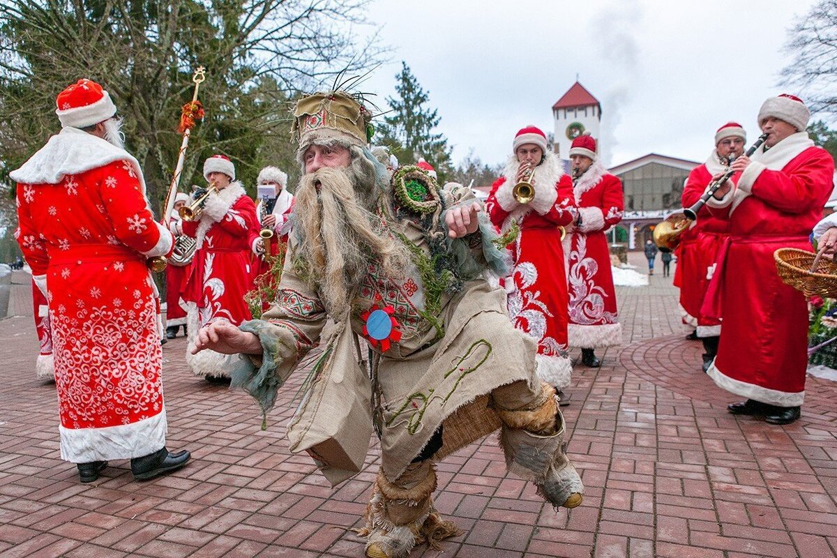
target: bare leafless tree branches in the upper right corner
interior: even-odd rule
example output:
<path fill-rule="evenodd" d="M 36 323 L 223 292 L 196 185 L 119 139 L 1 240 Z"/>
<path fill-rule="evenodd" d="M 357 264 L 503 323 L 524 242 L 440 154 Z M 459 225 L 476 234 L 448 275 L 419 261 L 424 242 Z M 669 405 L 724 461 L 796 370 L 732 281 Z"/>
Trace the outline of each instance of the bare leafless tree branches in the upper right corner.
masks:
<path fill-rule="evenodd" d="M 782 83 L 802 88 L 814 112 L 837 115 L 837 0 L 820 0 L 788 32 L 784 50 L 793 62 Z"/>

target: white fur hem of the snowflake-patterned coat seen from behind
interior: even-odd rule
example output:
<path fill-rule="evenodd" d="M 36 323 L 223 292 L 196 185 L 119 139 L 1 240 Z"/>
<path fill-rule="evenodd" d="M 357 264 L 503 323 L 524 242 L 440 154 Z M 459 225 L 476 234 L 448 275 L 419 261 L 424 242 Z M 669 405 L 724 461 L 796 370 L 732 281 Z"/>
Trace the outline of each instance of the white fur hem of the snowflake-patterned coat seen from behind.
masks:
<path fill-rule="evenodd" d="M 65 428 L 61 458 L 71 463 L 141 458 L 166 445 L 166 409 L 131 424 L 103 428 Z"/>

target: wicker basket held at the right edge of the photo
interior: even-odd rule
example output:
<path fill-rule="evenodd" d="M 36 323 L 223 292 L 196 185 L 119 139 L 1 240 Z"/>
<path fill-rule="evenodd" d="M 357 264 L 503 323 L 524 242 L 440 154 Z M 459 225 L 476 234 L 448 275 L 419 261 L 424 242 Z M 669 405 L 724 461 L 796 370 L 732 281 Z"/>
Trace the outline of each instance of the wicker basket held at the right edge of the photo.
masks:
<path fill-rule="evenodd" d="M 798 248 L 779 248 L 773 253 L 773 259 L 779 278 L 793 289 L 802 291 L 805 296 L 819 294 L 829 299 L 837 298 L 837 264 L 833 259 L 820 258 Z"/>

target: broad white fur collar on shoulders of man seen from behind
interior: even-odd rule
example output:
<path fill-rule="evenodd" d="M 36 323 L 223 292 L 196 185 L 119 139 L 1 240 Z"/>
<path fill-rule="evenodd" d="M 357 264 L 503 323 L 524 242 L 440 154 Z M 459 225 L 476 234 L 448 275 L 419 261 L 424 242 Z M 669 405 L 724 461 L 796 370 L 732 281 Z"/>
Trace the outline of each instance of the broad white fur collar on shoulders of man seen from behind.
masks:
<path fill-rule="evenodd" d="M 60 184 L 67 175 L 80 174 L 123 160 L 129 161 L 134 167 L 142 194 L 145 195 L 146 182 L 139 161 L 110 141 L 78 128 L 63 128 L 50 137 L 45 146 L 29 157 L 17 171 L 12 171 L 9 177 L 14 182 L 24 184 Z"/>

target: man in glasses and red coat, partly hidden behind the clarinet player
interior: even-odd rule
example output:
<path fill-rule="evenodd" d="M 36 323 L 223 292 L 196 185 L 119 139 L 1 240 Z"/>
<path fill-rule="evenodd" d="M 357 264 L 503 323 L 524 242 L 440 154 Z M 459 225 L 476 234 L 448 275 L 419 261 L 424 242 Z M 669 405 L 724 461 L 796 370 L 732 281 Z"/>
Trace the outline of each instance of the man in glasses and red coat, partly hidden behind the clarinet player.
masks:
<path fill-rule="evenodd" d="M 727 122 L 715 132 L 715 148 L 702 165 L 696 166 L 686 179 L 681 202 L 691 207 L 706 192 L 716 174 L 727 171 L 732 161 L 744 152 L 747 132 L 737 122 Z M 691 229 L 680 235 L 680 257 L 677 267 L 682 270 L 680 307 L 695 320 L 695 335 L 703 343 L 703 371 L 718 352 L 721 320 L 701 312 L 709 280 L 715 271 L 718 251 L 729 236 L 730 222 L 714 217 L 709 207 L 701 207 Z"/>

